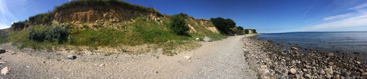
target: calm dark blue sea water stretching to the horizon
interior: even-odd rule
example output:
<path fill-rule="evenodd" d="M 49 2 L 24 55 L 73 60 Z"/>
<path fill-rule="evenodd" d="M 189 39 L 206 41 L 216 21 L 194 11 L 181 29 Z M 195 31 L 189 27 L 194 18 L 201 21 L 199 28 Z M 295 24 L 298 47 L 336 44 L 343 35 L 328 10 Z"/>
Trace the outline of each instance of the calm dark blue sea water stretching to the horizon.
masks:
<path fill-rule="evenodd" d="M 367 54 L 367 31 L 272 33 L 259 34 L 257 37 L 286 46 L 298 44 L 297 46 L 323 52 L 360 52 L 363 56 Z"/>

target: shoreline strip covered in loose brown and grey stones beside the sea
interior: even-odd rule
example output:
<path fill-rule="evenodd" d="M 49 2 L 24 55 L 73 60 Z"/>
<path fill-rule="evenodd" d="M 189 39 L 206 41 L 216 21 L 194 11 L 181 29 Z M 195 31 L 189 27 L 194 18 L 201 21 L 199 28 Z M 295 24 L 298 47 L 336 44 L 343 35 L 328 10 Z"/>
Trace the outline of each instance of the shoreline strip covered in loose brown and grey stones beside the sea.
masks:
<path fill-rule="evenodd" d="M 264 79 L 366 79 L 364 59 L 341 52 L 321 52 L 295 44 L 285 46 L 263 38 L 244 37 L 244 56 Z"/>

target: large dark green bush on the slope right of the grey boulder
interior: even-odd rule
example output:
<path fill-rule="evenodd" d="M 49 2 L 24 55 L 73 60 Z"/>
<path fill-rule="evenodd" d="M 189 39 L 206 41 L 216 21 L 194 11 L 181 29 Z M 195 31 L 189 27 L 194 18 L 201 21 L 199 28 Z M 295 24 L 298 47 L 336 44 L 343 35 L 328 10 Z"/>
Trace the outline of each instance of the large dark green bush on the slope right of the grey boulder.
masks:
<path fill-rule="evenodd" d="M 218 18 L 211 18 L 210 20 L 212 20 L 213 25 L 217 27 L 217 29 L 222 34 L 231 34 L 233 31 L 231 31 L 230 28 L 236 27 L 235 21 L 229 18 L 224 19 L 224 18 L 218 17 Z"/>

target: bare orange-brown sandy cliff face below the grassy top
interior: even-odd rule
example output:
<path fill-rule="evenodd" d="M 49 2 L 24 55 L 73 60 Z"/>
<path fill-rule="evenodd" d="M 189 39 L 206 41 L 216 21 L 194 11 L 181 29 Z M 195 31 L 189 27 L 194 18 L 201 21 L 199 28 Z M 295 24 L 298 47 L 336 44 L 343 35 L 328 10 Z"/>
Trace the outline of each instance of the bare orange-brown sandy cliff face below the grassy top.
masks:
<path fill-rule="evenodd" d="M 129 10 L 120 7 L 96 6 L 75 7 L 55 11 L 54 23 L 97 23 L 98 21 L 121 22 L 137 16 L 157 14 L 153 12 Z"/>

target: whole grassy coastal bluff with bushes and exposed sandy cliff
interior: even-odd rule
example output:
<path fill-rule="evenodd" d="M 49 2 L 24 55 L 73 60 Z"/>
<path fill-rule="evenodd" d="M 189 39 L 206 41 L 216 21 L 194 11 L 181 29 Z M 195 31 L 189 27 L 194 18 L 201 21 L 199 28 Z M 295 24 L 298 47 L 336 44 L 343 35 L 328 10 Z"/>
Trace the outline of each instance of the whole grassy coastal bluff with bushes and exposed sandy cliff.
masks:
<path fill-rule="evenodd" d="M 79 52 L 103 48 L 129 52 L 128 47 L 141 46 L 148 48 L 140 52 L 162 48 L 163 54 L 173 55 L 175 50 L 200 46 L 195 38 L 202 41 L 207 36 L 217 41 L 235 34 L 249 33 L 232 19 L 195 19 L 183 13 L 163 15 L 152 7 L 120 0 L 73 0 L 0 30 L 0 44 L 18 40 L 12 45 L 19 49 Z"/>

